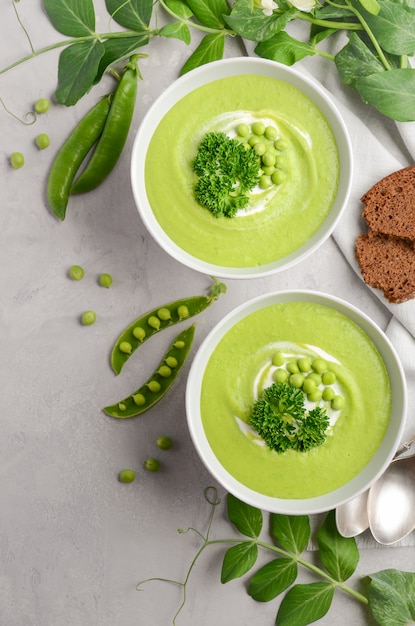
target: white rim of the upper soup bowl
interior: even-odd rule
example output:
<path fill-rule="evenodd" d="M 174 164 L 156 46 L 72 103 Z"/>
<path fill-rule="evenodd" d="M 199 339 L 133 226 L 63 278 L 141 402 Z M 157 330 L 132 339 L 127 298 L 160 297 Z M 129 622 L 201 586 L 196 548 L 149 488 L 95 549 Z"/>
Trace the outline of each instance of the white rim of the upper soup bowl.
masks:
<path fill-rule="evenodd" d="M 279 259 L 255 264 L 253 267 L 229 267 L 218 265 L 210 260 L 202 260 L 195 252 L 186 252 L 171 236 L 166 234 L 155 217 L 149 202 L 146 183 L 145 165 L 149 144 L 160 121 L 170 109 L 184 96 L 212 81 L 236 75 L 256 74 L 275 78 L 288 83 L 303 92 L 326 118 L 333 133 L 338 149 L 340 165 L 339 185 L 332 208 L 324 222 L 315 230 L 305 243 Z M 189 112 L 189 116 L 192 112 Z M 186 119 L 183 120 L 186 125 Z M 163 165 L 165 167 L 166 164 Z M 162 176 L 162 171 L 160 176 Z M 199 272 L 222 278 L 255 278 L 274 274 L 292 267 L 302 261 L 330 236 L 337 225 L 347 203 L 352 180 L 352 149 L 349 135 L 343 119 L 327 93 L 315 82 L 302 76 L 298 71 L 274 61 L 260 58 L 240 57 L 208 63 L 185 74 L 171 84 L 153 103 L 145 115 L 136 135 L 131 160 L 131 183 L 134 199 L 139 214 L 156 242 L 174 259 Z M 317 192 L 315 194 L 317 196 Z M 207 209 L 205 209 L 207 211 Z M 215 219 L 212 217 L 212 219 Z M 233 218 L 239 219 L 239 218 Z M 243 219 L 243 218 L 242 218 Z M 200 222 L 199 222 L 200 224 Z M 236 264 L 236 263 L 235 263 Z"/>

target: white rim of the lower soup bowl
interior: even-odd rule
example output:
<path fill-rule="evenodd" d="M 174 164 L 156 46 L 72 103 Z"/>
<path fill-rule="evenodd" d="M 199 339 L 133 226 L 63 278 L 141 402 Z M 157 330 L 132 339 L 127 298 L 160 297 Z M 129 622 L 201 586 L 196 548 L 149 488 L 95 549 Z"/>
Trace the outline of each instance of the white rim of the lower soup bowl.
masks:
<path fill-rule="evenodd" d="M 375 343 L 385 361 L 392 386 L 391 418 L 387 432 L 369 463 L 345 485 L 321 496 L 283 499 L 260 494 L 237 481 L 218 461 L 204 432 L 200 416 L 200 391 L 204 368 L 218 342 L 233 325 L 249 313 L 280 302 L 311 301 L 345 314 L 357 323 Z M 196 451 L 210 474 L 228 492 L 264 511 L 287 515 L 311 515 L 335 509 L 366 491 L 385 471 L 401 443 L 407 412 L 407 386 L 398 354 L 383 330 L 353 304 L 324 292 L 307 289 L 273 291 L 256 296 L 230 311 L 218 322 L 199 346 L 190 366 L 185 391 L 186 420 Z M 394 417 L 395 416 L 395 417 Z M 368 478 L 364 476 L 368 474 Z"/>

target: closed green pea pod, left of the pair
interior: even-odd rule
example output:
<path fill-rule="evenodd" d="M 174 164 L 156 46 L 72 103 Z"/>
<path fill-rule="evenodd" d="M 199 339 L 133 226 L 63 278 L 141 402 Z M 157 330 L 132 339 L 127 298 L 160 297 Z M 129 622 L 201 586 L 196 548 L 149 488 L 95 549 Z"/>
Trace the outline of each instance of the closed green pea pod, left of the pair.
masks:
<path fill-rule="evenodd" d="M 97 142 L 110 111 L 112 94 L 102 98 L 81 119 L 53 161 L 47 184 L 48 203 L 60 220 L 65 219 L 69 192 L 76 173 Z"/>

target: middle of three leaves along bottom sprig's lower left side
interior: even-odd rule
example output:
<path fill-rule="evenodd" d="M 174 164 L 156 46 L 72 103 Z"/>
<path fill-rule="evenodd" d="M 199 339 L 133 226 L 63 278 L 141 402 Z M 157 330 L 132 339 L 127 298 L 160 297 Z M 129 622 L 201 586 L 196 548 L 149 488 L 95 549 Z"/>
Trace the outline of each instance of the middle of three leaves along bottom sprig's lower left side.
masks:
<path fill-rule="evenodd" d="M 294 559 L 281 557 L 258 570 L 249 581 L 248 594 L 257 602 L 269 602 L 288 589 L 297 578 Z"/>

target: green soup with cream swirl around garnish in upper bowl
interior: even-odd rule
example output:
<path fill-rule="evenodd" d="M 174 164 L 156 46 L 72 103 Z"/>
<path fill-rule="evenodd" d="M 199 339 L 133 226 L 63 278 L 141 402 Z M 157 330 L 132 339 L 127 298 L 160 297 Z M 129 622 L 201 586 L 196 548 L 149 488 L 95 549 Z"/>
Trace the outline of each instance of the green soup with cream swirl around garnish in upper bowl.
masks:
<path fill-rule="evenodd" d="M 193 161 L 204 135 L 240 122 L 264 121 L 287 144 L 286 174 L 257 189 L 248 209 L 215 217 L 195 199 Z M 195 89 L 164 116 L 145 162 L 147 197 L 160 226 L 178 246 L 205 262 L 255 267 L 300 248 L 323 224 L 336 197 L 339 155 L 331 128 L 296 87 L 244 74 Z"/>

